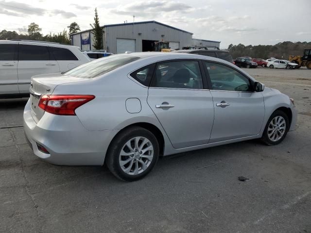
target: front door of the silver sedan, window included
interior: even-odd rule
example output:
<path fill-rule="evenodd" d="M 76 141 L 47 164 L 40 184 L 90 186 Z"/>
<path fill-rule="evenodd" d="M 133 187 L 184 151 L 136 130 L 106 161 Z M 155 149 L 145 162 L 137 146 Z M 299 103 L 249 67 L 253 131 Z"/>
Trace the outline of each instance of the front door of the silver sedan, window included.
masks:
<path fill-rule="evenodd" d="M 252 82 L 232 67 L 205 62 L 210 77 L 215 119 L 209 143 L 254 136 L 264 118 L 261 92 L 254 92 Z"/>

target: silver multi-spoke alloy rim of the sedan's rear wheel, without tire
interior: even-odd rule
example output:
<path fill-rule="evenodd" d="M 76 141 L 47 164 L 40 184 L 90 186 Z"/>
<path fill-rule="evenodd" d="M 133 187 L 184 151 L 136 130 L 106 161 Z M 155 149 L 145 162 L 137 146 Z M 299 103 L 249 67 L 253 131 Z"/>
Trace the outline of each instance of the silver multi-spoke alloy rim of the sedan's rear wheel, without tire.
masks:
<path fill-rule="evenodd" d="M 150 166 L 154 157 L 154 147 L 145 137 L 134 137 L 122 147 L 119 165 L 126 174 L 138 175 Z"/>

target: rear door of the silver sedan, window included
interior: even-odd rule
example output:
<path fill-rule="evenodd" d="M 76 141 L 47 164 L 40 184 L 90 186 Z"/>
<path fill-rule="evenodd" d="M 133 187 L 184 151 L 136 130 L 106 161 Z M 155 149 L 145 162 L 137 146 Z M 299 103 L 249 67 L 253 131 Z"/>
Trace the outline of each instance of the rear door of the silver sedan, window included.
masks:
<path fill-rule="evenodd" d="M 147 102 L 174 148 L 208 143 L 214 107 L 199 61 L 158 63 Z"/>

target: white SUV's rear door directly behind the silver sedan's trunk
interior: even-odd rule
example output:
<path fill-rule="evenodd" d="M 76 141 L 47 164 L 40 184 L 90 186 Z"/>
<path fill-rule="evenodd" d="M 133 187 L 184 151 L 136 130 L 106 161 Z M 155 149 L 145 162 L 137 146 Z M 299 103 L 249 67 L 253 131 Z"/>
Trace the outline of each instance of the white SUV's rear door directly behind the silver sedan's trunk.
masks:
<path fill-rule="evenodd" d="M 18 45 L 18 89 L 29 93 L 31 77 L 59 72 L 58 63 L 51 57 L 48 46 Z"/>

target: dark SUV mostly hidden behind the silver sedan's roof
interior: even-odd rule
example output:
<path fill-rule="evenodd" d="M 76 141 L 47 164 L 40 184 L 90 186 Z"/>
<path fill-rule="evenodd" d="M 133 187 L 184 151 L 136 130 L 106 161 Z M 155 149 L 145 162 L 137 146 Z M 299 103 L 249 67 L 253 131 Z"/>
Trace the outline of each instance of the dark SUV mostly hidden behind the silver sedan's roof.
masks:
<path fill-rule="evenodd" d="M 228 50 L 219 50 L 219 49 L 208 50 L 207 48 L 207 49 L 199 49 L 199 50 L 189 50 L 189 49 L 188 50 L 175 50 L 172 52 L 186 52 L 186 53 L 199 54 L 199 55 L 209 56 L 209 57 L 217 57 L 219 59 L 223 59 L 227 62 L 234 64 L 234 61 Z"/>

